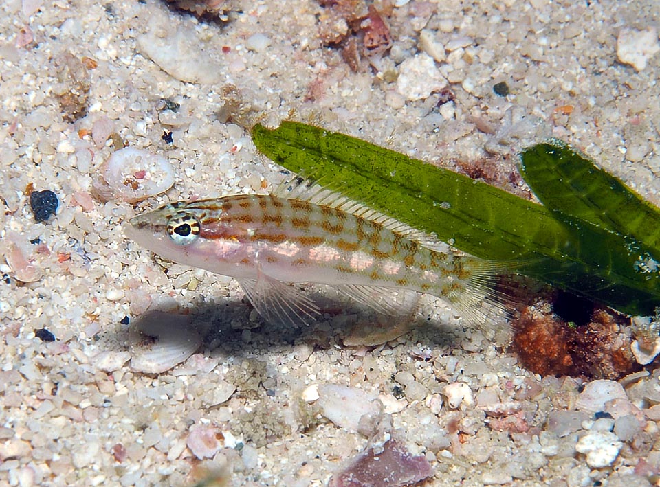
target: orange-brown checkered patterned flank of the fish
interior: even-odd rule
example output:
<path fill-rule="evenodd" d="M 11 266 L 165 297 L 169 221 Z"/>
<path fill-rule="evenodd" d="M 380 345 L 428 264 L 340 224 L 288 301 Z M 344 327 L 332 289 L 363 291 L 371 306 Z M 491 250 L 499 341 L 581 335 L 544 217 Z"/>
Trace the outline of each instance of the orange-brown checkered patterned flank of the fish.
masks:
<path fill-rule="evenodd" d="M 259 266 L 289 269 L 291 282 L 306 272 L 309 282 L 343 279 L 446 297 L 463 291 L 473 273 L 472 258 L 434 251 L 381 223 L 307 201 L 239 195 L 181 209 L 195 213 L 201 238 L 259 246 Z"/>

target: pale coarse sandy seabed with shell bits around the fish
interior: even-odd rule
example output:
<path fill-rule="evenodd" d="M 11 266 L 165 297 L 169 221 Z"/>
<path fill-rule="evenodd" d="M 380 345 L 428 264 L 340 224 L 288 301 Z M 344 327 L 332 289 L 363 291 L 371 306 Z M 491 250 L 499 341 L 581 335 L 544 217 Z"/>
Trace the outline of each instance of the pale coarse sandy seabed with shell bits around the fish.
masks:
<path fill-rule="evenodd" d="M 288 117 L 445 168 L 487 163 L 518 194 L 516 153 L 558 137 L 659 203 L 656 2 L 378 6 L 393 45 L 353 71 L 321 35 L 347 25 L 316 1 L 236 0 L 201 20 L 156 0 L 0 5 L 0 484 L 325 485 L 370 444 L 315 404 L 337 390 L 380 398 L 380 433 L 430 464 L 425 485 L 657 482 L 653 365 L 619 387 L 542 378 L 502 327 L 431 299 L 430 324 L 347 346 L 354 314 L 263 324 L 230 278 L 124 236 L 165 201 L 271 190 L 281 168 L 245 127 Z M 172 187 L 136 202 L 104 186 L 122 144 L 164 157 Z M 58 196 L 45 223 L 32 189 Z M 167 321 L 154 312 L 201 342 L 163 372 L 135 337 Z"/>

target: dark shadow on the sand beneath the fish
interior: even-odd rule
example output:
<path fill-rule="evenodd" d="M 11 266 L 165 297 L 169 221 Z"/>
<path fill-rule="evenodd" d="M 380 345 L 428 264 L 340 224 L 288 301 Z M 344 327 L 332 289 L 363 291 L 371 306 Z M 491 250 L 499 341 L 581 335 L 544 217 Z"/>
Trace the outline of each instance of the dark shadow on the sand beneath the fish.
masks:
<path fill-rule="evenodd" d="M 148 330 L 166 326 L 164 321 L 171 321 L 174 315 L 180 319 L 171 321 L 170 326 L 178 327 L 181 334 L 195 332 L 201 337 L 197 351 L 211 356 L 286 354 L 299 346 L 369 351 L 405 342 L 451 350 L 465 338 L 465 326 L 443 322 L 434 313 L 385 316 L 361 304 L 322 295 L 315 296 L 315 301 L 322 317 L 295 326 L 265 321 L 245 298 L 212 303 L 199 299 L 184 311 L 151 308 L 130 326 L 148 336 Z M 175 336 L 171 332 L 167 335 Z"/>

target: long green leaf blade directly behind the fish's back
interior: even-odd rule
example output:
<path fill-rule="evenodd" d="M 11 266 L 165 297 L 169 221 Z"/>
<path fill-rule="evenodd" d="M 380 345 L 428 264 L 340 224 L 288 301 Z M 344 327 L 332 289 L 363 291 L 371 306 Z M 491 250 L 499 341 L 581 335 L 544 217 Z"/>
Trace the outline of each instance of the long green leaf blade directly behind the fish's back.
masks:
<path fill-rule="evenodd" d="M 253 128 L 267 157 L 288 170 L 433 233 L 481 258 L 516 262 L 534 278 L 599 299 L 626 313 L 660 302 L 657 273 L 641 275 L 625 236 L 461 174 L 322 128 L 283 122 Z"/>

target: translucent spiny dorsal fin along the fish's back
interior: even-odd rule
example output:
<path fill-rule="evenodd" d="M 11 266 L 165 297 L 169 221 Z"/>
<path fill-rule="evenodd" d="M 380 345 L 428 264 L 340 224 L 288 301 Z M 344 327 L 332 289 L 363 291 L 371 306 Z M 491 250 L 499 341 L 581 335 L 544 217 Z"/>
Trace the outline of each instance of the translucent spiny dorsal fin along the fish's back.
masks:
<path fill-rule="evenodd" d="M 386 229 L 393 231 L 395 234 L 404 236 L 428 249 L 447 253 L 450 248 L 445 242 L 441 242 L 434 236 L 410 227 L 396 218 L 377 212 L 375 209 L 371 209 L 364 203 L 350 199 L 339 192 L 323 188 L 317 179 L 311 177 L 291 174 L 284 179 L 280 185 L 278 185 L 273 192 L 273 196 L 283 199 L 307 201 L 314 205 L 340 209 L 342 212 L 347 212 L 351 215 L 364 218 L 365 220 L 379 223 Z M 452 251 L 456 252 L 456 249 L 452 249 Z"/>

